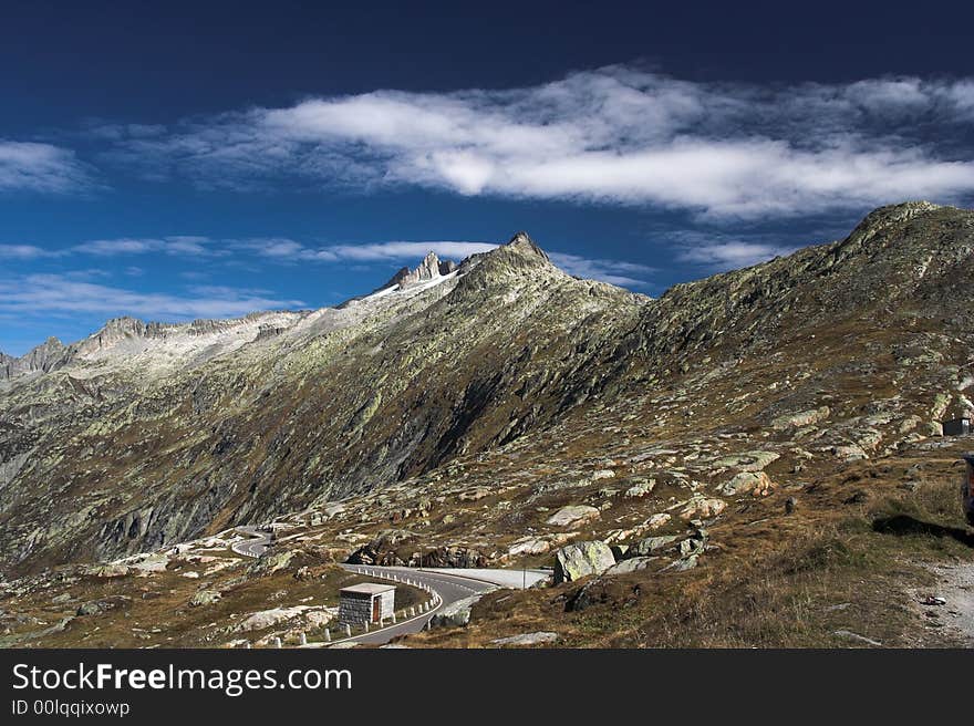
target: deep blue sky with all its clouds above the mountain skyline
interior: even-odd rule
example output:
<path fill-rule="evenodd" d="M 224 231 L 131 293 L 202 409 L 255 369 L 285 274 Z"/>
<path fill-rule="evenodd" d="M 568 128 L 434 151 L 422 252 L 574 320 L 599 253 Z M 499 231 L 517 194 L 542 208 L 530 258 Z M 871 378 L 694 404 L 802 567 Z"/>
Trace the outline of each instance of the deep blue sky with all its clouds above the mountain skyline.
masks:
<path fill-rule="evenodd" d="M 309 4 L 4 3 L 0 351 L 334 304 L 521 229 L 655 295 L 974 199 L 970 10 Z"/>

